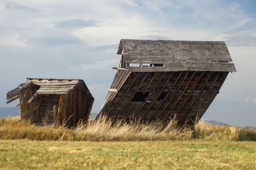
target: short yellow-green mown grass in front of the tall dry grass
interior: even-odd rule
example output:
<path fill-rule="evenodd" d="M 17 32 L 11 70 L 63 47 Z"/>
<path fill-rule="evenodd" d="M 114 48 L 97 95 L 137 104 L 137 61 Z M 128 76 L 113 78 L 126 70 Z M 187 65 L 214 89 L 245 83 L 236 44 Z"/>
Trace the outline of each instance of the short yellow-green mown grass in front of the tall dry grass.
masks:
<path fill-rule="evenodd" d="M 256 142 L 0 140 L 0 170 L 256 170 Z"/>

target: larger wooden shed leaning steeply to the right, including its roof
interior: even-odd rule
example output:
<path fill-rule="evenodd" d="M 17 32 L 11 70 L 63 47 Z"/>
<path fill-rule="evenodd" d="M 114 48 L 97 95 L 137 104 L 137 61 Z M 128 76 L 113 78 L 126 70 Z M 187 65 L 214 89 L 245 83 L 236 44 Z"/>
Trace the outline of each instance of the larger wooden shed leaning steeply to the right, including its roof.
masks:
<path fill-rule="evenodd" d="M 99 115 L 129 121 L 202 117 L 229 72 L 236 72 L 223 41 L 121 39 L 121 59 Z"/>

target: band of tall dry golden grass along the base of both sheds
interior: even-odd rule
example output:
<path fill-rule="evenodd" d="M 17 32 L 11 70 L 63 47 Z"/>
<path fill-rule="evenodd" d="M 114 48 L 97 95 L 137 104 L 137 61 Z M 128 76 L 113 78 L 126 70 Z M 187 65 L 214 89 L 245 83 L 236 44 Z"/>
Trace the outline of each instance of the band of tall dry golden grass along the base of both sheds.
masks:
<path fill-rule="evenodd" d="M 130 124 L 122 120 L 112 123 L 107 117 L 80 123 L 75 128 L 36 126 L 19 117 L 0 118 L 0 139 L 61 140 L 61 141 L 146 141 L 146 140 L 229 140 L 256 141 L 256 130 L 228 126 L 195 124 L 193 130 L 179 127 L 175 119 L 167 126 L 161 122 L 143 124 L 135 120 Z M 19 120 L 19 121 L 18 121 Z"/>

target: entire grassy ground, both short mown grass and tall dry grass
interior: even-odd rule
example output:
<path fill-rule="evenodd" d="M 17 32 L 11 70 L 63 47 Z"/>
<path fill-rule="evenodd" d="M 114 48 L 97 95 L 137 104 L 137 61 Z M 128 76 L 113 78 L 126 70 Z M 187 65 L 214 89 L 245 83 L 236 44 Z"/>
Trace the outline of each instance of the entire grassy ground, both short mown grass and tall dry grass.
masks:
<path fill-rule="evenodd" d="M 256 130 L 161 123 L 74 128 L 0 118 L 0 170 L 256 170 Z"/>

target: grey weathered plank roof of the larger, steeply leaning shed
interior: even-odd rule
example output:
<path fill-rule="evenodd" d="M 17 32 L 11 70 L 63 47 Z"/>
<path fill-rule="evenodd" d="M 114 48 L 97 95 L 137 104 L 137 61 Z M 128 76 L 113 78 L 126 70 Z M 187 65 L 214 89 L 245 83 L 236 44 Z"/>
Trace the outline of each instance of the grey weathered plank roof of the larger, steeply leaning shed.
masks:
<path fill-rule="evenodd" d="M 123 68 L 131 72 L 236 72 L 224 41 L 121 39 L 117 54 L 123 55 Z"/>

